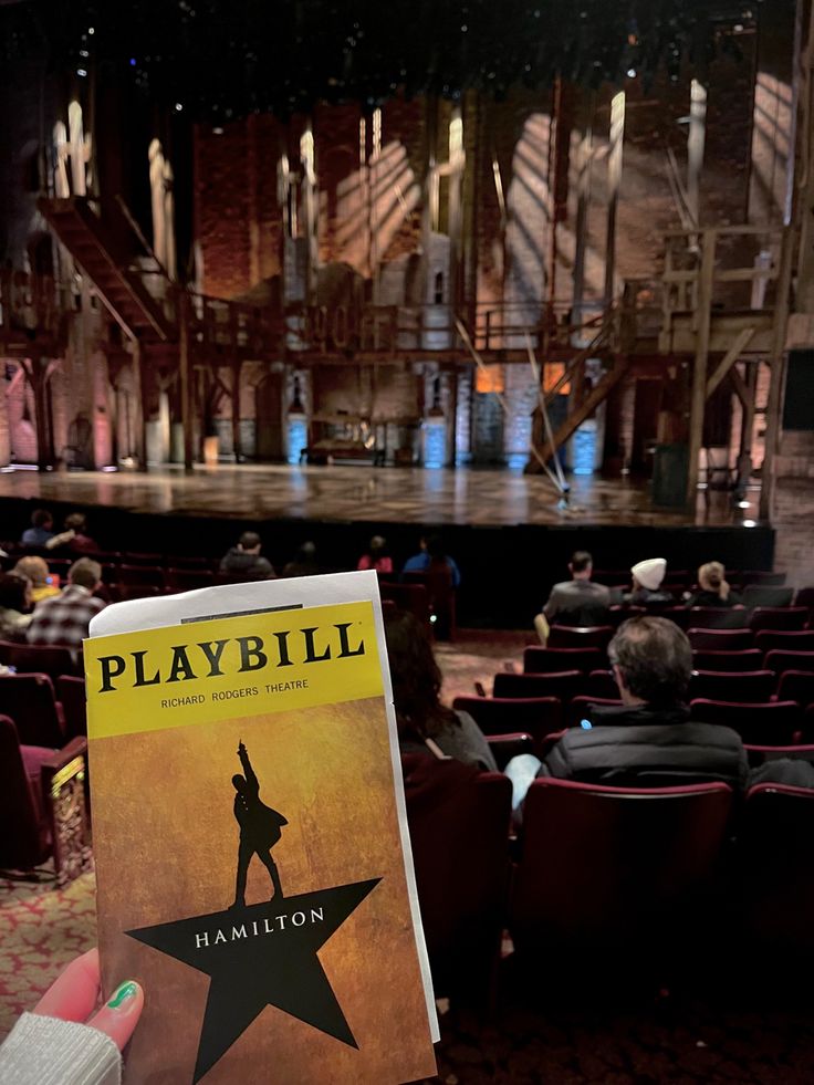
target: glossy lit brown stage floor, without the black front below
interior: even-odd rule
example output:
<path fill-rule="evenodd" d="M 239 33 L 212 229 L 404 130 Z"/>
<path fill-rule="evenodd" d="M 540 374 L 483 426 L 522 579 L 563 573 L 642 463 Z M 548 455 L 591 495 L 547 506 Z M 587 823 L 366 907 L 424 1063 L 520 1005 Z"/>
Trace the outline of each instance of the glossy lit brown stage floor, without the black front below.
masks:
<path fill-rule="evenodd" d="M 628 479 L 574 477 L 571 505 L 557 509 L 551 483 L 510 470 L 289 467 L 241 465 L 136 472 L 0 473 L 0 498 L 103 505 L 138 513 L 219 519 L 377 521 L 509 526 L 751 526 L 749 508 L 730 494 L 699 491 L 695 515 L 654 509 L 647 486 Z"/>

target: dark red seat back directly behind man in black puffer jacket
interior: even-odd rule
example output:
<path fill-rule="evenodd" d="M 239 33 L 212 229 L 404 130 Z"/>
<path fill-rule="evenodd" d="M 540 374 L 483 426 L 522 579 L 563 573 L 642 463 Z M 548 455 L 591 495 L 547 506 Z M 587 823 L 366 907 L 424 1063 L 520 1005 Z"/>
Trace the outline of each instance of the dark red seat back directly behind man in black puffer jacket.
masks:
<path fill-rule="evenodd" d="M 670 940 L 654 935 L 675 932 L 698 908 L 731 802 L 717 783 L 633 790 L 535 780 L 510 903 L 518 950 L 667 952 Z"/>

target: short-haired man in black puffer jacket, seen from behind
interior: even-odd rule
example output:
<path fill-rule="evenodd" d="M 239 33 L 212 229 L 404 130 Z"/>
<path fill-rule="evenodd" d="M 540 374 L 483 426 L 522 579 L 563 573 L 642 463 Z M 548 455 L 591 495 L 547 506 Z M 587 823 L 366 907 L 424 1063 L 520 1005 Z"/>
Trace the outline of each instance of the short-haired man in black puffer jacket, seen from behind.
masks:
<path fill-rule="evenodd" d="M 515 805 L 534 775 L 620 787 L 710 781 L 738 791 L 745 786 L 749 765 L 740 737 L 728 727 L 689 720 L 692 649 L 674 622 L 649 615 L 623 622 L 608 657 L 623 703 L 592 706 L 545 762 L 514 758 L 507 774 Z"/>

